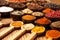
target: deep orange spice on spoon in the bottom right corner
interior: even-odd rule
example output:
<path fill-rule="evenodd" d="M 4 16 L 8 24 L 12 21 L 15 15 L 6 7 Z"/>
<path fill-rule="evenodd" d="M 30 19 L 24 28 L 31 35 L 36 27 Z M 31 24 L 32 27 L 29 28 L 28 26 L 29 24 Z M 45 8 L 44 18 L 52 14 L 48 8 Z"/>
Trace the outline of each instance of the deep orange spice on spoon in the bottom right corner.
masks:
<path fill-rule="evenodd" d="M 57 30 L 49 30 L 46 32 L 46 37 L 48 37 L 48 38 L 59 38 L 60 32 Z"/>

